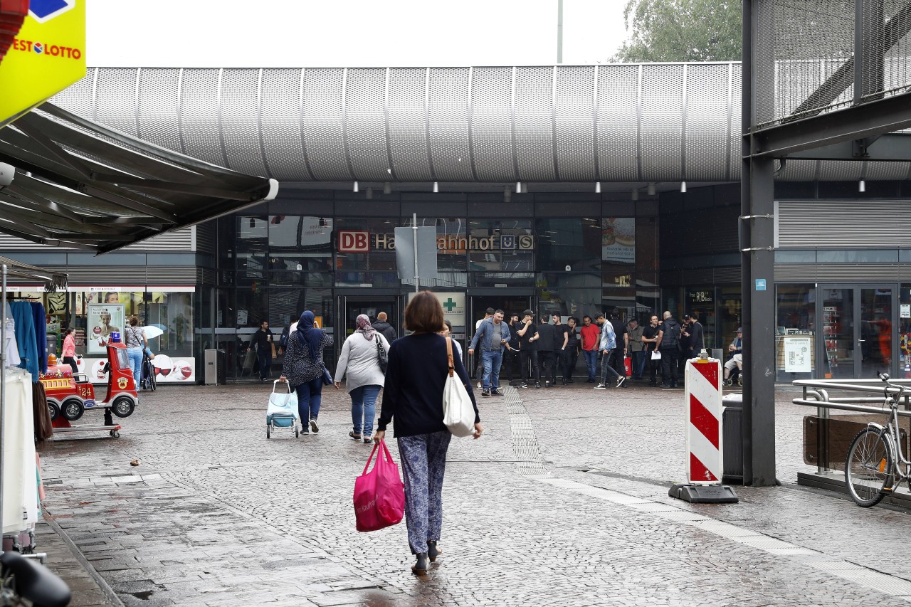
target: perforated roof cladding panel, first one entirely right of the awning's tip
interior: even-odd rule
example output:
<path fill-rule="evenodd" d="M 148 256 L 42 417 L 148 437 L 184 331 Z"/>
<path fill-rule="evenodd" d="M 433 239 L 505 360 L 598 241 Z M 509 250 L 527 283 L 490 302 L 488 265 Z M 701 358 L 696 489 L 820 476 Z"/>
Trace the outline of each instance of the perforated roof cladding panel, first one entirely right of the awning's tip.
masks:
<path fill-rule="evenodd" d="M 343 75 L 341 68 L 304 70 L 303 139 L 316 180 L 352 180 L 344 153 Z"/>

